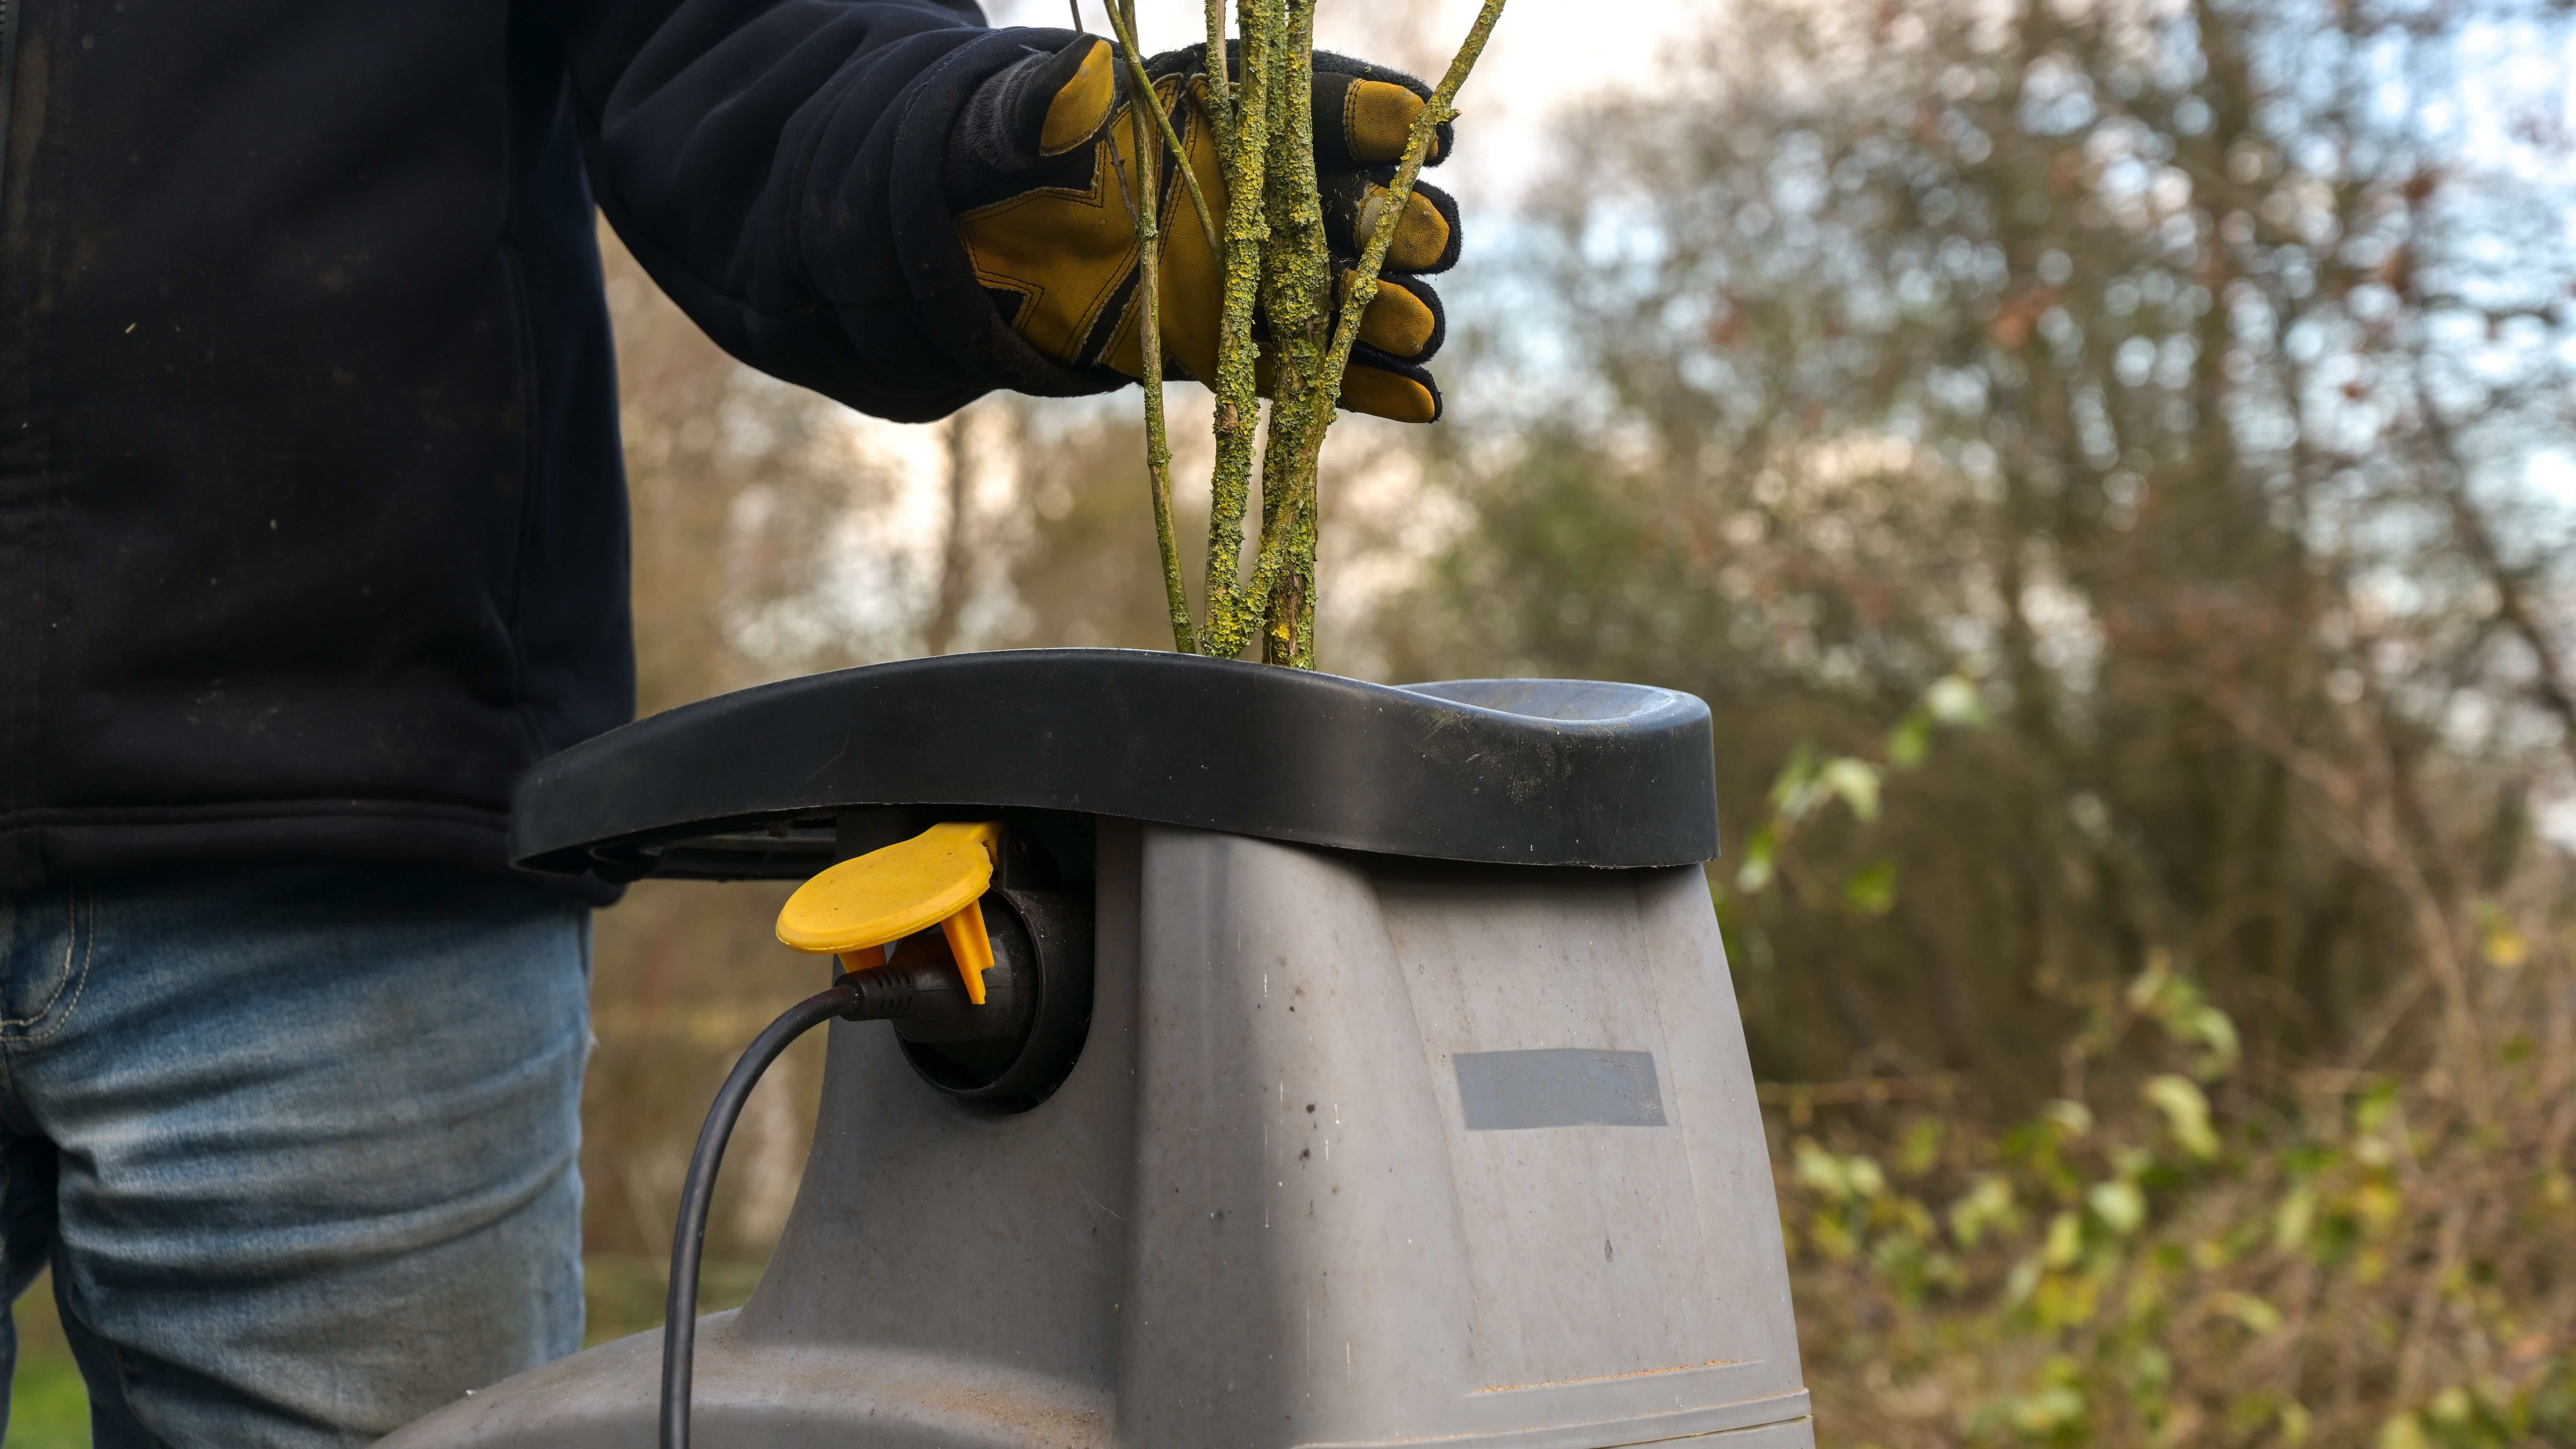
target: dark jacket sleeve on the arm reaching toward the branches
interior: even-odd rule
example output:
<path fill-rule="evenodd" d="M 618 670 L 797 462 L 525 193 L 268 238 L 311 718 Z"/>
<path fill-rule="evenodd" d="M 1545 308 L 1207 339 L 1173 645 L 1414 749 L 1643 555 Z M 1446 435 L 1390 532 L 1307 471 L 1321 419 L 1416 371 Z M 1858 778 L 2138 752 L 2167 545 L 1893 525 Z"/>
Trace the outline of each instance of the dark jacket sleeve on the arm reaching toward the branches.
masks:
<path fill-rule="evenodd" d="M 974 0 L 559 5 L 592 193 L 726 353 L 896 422 L 1115 386 L 1002 324 L 940 196 L 966 98 L 1072 31 Z"/>

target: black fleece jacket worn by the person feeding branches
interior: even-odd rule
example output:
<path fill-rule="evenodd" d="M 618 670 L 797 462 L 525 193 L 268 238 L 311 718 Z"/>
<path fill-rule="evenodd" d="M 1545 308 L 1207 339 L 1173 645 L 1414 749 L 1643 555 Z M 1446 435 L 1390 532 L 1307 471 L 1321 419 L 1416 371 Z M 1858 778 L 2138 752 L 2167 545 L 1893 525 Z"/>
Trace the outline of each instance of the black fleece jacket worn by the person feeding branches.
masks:
<path fill-rule="evenodd" d="M 0 0 L 0 891 L 505 870 L 626 721 L 592 198 L 737 358 L 894 420 L 1113 386 L 938 178 L 1066 31 L 971 0 Z"/>

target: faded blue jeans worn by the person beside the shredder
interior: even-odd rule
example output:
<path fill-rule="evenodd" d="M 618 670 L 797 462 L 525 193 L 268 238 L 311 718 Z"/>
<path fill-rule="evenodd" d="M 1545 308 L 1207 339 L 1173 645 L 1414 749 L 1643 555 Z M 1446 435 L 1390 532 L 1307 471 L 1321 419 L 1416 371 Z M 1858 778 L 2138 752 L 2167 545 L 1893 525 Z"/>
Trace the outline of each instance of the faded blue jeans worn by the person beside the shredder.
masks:
<path fill-rule="evenodd" d="M 366 1444 L 580 1346 L 587 1053 L 590 911 L 518 880 L 0 896 L 8 1295 L 54 1269 L 100 1446 Z"/>

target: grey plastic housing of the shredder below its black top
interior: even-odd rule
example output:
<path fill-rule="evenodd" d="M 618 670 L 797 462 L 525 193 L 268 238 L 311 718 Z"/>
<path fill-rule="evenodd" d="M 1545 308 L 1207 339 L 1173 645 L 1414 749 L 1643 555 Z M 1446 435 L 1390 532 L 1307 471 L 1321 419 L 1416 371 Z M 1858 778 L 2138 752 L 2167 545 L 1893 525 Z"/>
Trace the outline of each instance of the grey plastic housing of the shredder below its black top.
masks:
<path fill-rule="evenodd" d="M 1092 1024 L 1030 1112 L 832 1024 L 706 1446 L 1814 1444 L 1698 867 L 1097 826 Z M 786 963 L 781 963 L 786 965 Z M 652 1444 L 659 1333 L 397 1449 Z"/>

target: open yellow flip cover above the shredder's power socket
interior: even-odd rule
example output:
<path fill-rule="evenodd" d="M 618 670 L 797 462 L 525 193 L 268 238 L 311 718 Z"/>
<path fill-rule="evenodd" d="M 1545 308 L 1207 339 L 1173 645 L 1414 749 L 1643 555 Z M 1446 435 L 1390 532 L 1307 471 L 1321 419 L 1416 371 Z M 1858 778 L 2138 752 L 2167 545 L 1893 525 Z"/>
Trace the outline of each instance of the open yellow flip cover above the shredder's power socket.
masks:
<path fill-rule="evenodd" d="M 999 839 L 1002 826 L 994 821 L 943 821 L 907 842 L 842 860 L 788 896 L 778 911 L 778 939 L 801 952 L 840 955 L 842 965 L 860 970 L 886 960 L 881 947 L 940 927 L 966 981 L 966 999 L 981 1006 L 992 937 L 979 901 L 992 885 Z"/>

